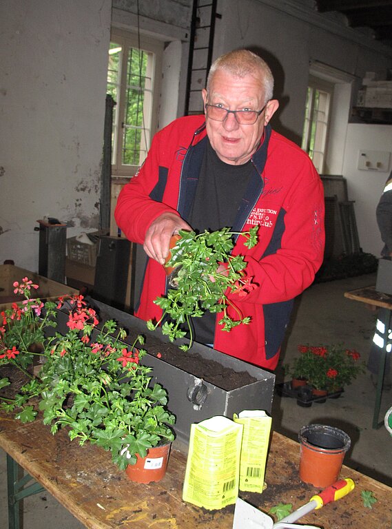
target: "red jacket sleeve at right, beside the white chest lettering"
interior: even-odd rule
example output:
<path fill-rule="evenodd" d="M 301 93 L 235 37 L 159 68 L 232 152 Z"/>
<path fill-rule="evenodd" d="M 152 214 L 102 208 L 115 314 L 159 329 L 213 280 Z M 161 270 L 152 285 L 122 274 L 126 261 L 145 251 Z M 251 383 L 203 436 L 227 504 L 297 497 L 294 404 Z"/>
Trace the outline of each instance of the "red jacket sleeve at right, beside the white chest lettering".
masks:
<path fill-rule="evenodd" d="M 278 243 L 274 243 L 274 238 Z M 310 160 L 302 167 L 302 178 L 292 186 L 283 204 L 269 248 L 262 258 L 247 253 L 247 276 L 258 288 L 236 302 L 276 303 L 291 300 L 313 282 L 324 257 L 324 190 Z"/>

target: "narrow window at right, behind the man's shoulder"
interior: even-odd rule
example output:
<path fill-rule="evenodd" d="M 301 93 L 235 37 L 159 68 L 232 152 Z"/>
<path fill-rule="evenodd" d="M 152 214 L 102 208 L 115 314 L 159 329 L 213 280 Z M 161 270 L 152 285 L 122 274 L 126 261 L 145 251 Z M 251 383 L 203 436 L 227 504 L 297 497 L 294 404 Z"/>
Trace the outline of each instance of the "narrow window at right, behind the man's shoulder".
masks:
<path fill-rule="evenodd" d="M 319 79 L 309 82 L 301 147 L 309 154 L 319 173 L 324 170 L 332 93 L 333 85 Z"/>

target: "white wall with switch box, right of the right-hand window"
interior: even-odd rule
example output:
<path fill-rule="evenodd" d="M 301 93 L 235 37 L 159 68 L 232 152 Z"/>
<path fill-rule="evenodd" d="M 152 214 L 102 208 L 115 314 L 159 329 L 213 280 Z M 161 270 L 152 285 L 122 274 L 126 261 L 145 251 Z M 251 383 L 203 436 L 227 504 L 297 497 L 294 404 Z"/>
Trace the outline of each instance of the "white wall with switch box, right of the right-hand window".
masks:
<path fill-rule="evenodd" d="M 391 152 L 385 172 L 358 169 L 360 150 Z M 392 169 L 392 126 L 351 123 L 347 129 L 343 174 L 354 210 L 362 250 L 379 257 L 383 242 L 375 220 L 375 208 Z"/>

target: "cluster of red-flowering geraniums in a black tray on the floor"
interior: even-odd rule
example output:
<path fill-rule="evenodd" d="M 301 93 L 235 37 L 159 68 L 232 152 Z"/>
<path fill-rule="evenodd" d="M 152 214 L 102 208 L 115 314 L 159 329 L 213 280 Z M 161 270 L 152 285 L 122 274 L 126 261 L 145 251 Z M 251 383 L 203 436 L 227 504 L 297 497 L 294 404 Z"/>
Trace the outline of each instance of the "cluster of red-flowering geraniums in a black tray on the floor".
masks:
<path fill-rule="evenodd" d="M 298 351 L 300 356 L 287 366 L 287 371 L 316 389 L 338 391 L 364 371 L 360 353 L 342 345 L 299 345 Z"/>

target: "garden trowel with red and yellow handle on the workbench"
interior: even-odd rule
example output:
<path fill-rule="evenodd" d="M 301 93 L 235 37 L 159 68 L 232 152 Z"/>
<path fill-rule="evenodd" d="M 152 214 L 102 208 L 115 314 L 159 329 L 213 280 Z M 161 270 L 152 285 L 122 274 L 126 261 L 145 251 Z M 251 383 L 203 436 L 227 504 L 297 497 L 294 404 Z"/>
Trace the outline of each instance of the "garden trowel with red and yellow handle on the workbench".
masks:
<path fill-rule="evenodd" d="M 294 510 L 291 514 L 276 523 L 265 512 L 251 506 L 243 499 L 237 498 L 236 509 L 234 510 L 233 529 L 319 529 L 315 526 L 302 526 L 293 522 L 314 509 L 320 509 L 323 505 L 327 505 L 331 501 L 336 501 L 346 496 L 354 487 L 355 484 L 351 478 L 340 479 L 333 485 L 325 488 L 320 494 L 311 497 L 307 504 Z"/>

